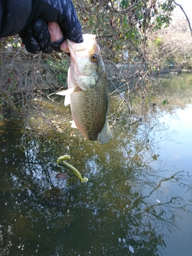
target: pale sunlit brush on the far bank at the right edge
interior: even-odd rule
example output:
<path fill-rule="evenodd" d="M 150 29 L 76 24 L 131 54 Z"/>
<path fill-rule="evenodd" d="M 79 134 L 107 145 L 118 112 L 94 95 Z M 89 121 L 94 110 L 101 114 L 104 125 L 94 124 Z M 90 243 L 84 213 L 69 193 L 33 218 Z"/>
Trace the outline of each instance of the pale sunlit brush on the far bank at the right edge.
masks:
<path fill-rule="evenodd" d="M 150 54 L 147 58 L 150 63 L 161 62 L 169 68 L 177 67 L 190 71 L 191 62 L 191 35 L 185 19 L 174 18 L 168 28 L 161 29 L 150 36 Z"/>

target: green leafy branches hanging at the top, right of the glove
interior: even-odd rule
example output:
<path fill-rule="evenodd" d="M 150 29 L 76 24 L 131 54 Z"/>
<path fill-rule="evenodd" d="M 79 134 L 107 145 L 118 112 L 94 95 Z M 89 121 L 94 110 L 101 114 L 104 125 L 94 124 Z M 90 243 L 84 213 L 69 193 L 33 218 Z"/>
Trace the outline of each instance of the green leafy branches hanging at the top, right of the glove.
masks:
<path fill-rule="evenodd" d="M 174 10 L 172 0 L 159 4 L 157 0 L 74 1 L 83 32 L 97 35 L 108 60 L 144 62 L 146 34 L 170 23 Z"/>

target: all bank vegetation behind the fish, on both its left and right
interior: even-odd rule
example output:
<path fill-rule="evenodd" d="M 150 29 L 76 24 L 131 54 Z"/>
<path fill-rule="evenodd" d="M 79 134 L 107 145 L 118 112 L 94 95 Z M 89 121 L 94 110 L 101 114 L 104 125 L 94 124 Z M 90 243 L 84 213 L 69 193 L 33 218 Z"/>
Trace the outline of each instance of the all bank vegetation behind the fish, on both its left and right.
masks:
<path fill-rule="evenodd" d="M 172 22 L 174 0 L 74 0 L 73 3 L 83 33 L 96 34 L 106 67 L 110 65 L 114 74 L 110 76 L 111 82 L 126 91 L 120 105 L 122 108 L 124 104 L 127 115 L 142 116 L 143 104 L 154 110 L 156 102 L 151 97 L 154 72 L 163 66 L 171 69 L 176 65 L 179 70 L 191 70 L 190 30 L 183 18 Z M 55 101 L 58 88 L 67 87 L 70 58 L 55 52 L 30 54 L 17 36 L 2 39 L 0 51 L 0 118 L 6 119 L 7 113 L 20 116 L 32 131 L 29 118 L 33 113 L 41 115 L 52 127 L 54 122 L 45 115 L 41 99 L 46 96 Z M 130 69 L 130 65 L 137 68 Z M 58 106 L 59 101 L 55 101 L 59 115 Z M 111 110 L 111 116 L 116 110 Z"/>

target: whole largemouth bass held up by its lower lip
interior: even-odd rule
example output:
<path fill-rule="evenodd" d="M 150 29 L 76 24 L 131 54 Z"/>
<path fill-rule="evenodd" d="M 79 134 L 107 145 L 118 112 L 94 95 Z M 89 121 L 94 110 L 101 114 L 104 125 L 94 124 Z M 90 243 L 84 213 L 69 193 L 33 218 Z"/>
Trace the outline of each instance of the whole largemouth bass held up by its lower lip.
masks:
<path fill-rule="evenodd" d="M 101 144 L 111 139 L 108 123 L 108 79 L 95 35 L 84 34 L 80 44 L 67 39 L 71 55 L 68 70 L 68 90 L 65 105 L 71 104 L 71 112 L 77 129 L 88 140 Z"/>

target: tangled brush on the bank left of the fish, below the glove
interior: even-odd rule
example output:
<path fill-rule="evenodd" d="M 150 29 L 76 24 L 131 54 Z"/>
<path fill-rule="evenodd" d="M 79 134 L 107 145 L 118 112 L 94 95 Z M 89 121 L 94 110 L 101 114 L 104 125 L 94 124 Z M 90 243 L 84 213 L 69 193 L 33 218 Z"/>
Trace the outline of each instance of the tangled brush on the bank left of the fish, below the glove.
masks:
<path fill-rule="evenodd" d="M 58 53 L 52 56 L 29 54 L 19 38 L 11 37 L 1 40 L 0 62 L 0 118 L 22 118 L 25 132 L 33 130 L 32 119 L 35 129 L 45 125 L 56 128 L 57 121 L 53 122 L 46 114 L 46 106 L 41 99 L 52 99 L 58 88 L 67 86 L 69 58 Z M 57 103 L 55 111 L 59 117 Z M 41 124 L 35 122 L 36 115 L 40 116 Z"/>

